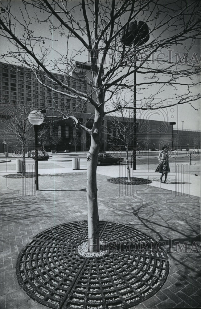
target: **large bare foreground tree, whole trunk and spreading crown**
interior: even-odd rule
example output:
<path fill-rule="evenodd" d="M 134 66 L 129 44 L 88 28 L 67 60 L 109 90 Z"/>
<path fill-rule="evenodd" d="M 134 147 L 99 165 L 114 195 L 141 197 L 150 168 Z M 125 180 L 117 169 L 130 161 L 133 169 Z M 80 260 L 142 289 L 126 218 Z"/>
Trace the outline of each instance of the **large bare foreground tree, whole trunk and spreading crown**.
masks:
<path fill-rule="evenodd" d="M 163 0 L 23 0 L 17 4 L 11 0 L 2 1 L 1 36 L 2 39 L 7 38 L 10 45 L 13 44 L 4 53 L 4 60 L 10 61 L 10 57 L 13 63 L 28 66 L 38 82 L 50 91 L 60 92 L 71 99 L 78 98 L 80 110 L 86 104 L 94 108 L 92 129 L 86 128 L 80 118 L 73 116 L 68 106 L 66 112 L 60 110 L 63 119 L 73 119 L 76 128 L 84 129 L 91 136 L 87 154 L 91 251 L 99 250 L 96 167 L 102 121 L 110 112 L 133 108 L 120 104 L 118 108 L 111 109 L 110 99 L 124 90 L 132 92 L 134 72 L 139 76 L 136 86 L 142 99 L 137 108 L 154 110 L 176 104 L 192 105 L 199 99 L 196 87 L 199 63 L 193 50 L 200 31 L 198 6 L 196 0 L 175 0 L 174 3 L 164 3 Z M 132 22 L 133 30 L 129 27 Z M 149 26 L 149 35 L 144 33 L 145 23 Z M 49 28 L 50 35 L 47 31 L 43 35 L 43 28 Z M 53 33 L 59 42 L 66 43 L 66 47 L 53 49 L 56 44 L 56 40 L 52 44 Z M 125 39 L 128 37 L 133 43 L 129 46 Z M 77 40 L 74 50 L 70 46 L 71 38 Z M 147 44 L 143 44 L 148 39 Z M 81 66 L 76 68 L 73 62 L 75 57 L 83 59 L 86 53 L 89 55 L 91 78 L 80 74 Z M 68 82 L 70 71 L 74 69 L 78 72 L 75 80 L 80 88 Z M 64 78 L 61 80 L 54 72 L 63 74 Z M 156 102 L 156 98 L 161 99 Z M 56 104 L 53 108 L 59 110 Z"/>

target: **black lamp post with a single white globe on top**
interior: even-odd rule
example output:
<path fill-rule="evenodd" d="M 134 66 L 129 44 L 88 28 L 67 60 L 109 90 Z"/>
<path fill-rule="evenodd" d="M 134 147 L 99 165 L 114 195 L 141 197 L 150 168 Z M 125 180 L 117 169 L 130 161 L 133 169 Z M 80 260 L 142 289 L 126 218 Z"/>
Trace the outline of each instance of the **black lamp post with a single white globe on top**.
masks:
<path fill-rule="evenodd" d="M 44 116 L 39 111 L 32 111 L 28 116 L 29 122 L 34 126 L 35 132 L 35 189 L 39 190 L 39 174 L 38 174 L 38 130 L 39 125 L 43 123 Z"/>

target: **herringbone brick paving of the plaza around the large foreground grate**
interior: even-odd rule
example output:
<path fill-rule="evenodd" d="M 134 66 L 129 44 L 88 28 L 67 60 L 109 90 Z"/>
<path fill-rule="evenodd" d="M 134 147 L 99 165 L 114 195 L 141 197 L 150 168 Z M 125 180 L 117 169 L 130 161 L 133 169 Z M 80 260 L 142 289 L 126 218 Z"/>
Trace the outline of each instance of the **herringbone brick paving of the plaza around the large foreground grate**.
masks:
<path fill-rule="evenodd" d="M 133 308 L 199 308 L 200 205 L 148 184 L 120 186 L 97 175 L 99 217 L 133 226 L 161 241 L 168 252 L 170 273 L 162 288 Z M 34 235 L 58 224 L 87 220 L 86 173 L 34 179 L 1 177 L 0 309 L 47 309 L 20 289 L 16 260 Z M 28 195 L 29 194 L 29 195 Z"/>

